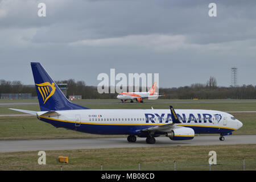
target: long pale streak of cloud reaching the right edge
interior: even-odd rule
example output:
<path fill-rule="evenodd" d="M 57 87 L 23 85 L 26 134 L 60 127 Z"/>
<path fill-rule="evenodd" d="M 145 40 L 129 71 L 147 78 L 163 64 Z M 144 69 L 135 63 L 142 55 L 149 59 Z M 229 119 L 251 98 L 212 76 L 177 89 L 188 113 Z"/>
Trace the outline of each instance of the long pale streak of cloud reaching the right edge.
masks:
<path fill-rule="evenodd" d="M 197 44 L 188 42 L 185 35 L 128 35 L 118 38 L 85 39 L 69 43 L 69 46 L 91 46 L 91 47 L 123 47 L 123 48 L 146 48 L 159 52 L 170 51 L 232 51 L 236 49 L 249 48 L 255 44 L 253 40 L 232 40 L 221 43 Z"/>

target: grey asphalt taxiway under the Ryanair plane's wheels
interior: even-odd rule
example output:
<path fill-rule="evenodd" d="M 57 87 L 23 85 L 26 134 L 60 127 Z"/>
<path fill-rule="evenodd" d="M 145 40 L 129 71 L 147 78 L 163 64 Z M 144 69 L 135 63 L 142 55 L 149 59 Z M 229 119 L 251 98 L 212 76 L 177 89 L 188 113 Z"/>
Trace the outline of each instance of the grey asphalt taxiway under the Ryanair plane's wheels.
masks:
<path fill-rule="evenodd" d="M 0 140 L 0 152 L 74 150 L 93 148 L 123 147 L 174 147 L 201 146 L 219 144 L 256 144 L 256 135 L 229 135 L 220 141 L 218 135 L 196 136 L 192 140 L 173 141 L 167 137 L 158 137 L 155 144 L 147 144 L 145 138 L 137 137 L 137 142 L 127 142 L 122 138 L 86 138 L 86 139 L 31 139 Z"/>

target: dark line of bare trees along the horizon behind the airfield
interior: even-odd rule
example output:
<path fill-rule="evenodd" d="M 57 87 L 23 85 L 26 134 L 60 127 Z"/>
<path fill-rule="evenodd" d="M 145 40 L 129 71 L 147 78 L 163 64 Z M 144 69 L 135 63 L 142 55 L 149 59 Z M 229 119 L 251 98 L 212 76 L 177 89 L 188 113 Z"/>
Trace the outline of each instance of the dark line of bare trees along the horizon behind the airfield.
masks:
<path fill-rule="evenodd" d="M 117 93 L 100 94 L 97 86 L 88 86 L 84 81 L 74 79 L 55 81 L 56 84 L 67 84 L 68 96 L 82 96 L 82 98 L 116 98 Z M 110 90 L 110 89 L 109 89 Z M 127 89 L 128 90 L 128 89 Z M 140 88 L 142 90 L 142 88 Z M 0 80 L 1 93 L 31 93 L 36 96 L 35 85 L 23 85 L 20 81 Z M 236 87 L 217 86 L 216 78 L 210 77 L 205 84 L 192 84 L 180 86 L 179 88 L 159 88 L 159 94 L 165 94 L 168 99 L 256 99 L 256 86 L 242 85 Z"/>

